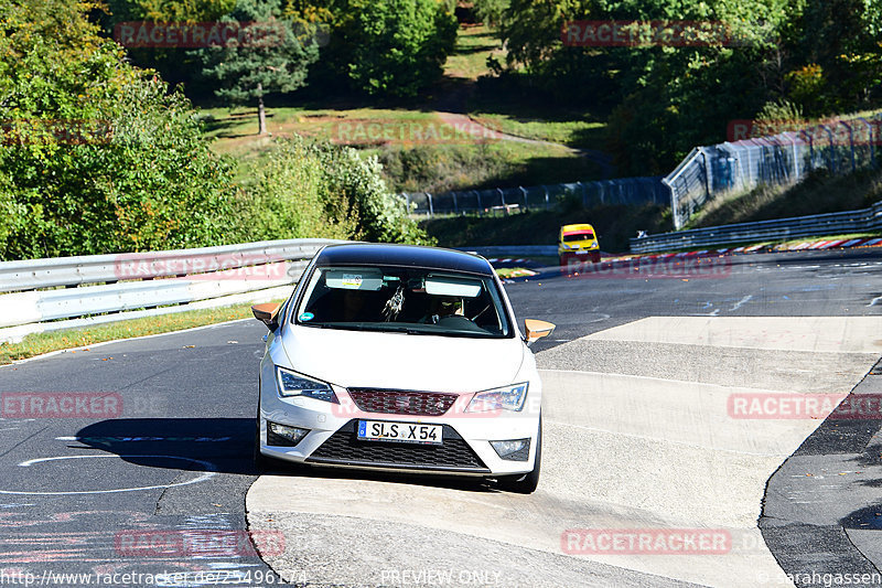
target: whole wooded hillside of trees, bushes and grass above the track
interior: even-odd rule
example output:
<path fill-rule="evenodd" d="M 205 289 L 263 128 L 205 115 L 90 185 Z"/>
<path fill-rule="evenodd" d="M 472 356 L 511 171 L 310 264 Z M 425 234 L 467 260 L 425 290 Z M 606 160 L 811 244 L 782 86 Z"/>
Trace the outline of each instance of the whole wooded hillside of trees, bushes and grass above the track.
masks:
<path fill-rule="evenodd" d="M 0 259 L 312 236 L 430 243 L 395 192 L 667 173 L 733 119 L 882 106 L 882 3 L 865 0 L 0 0 Z M 585 42 L 579 24 L 671 19 L 721 25 L 697 42 L 613 46 Z M 280 34 L 123 46 L 115 26 L 128 21 L 259 21 Z M 415 122 L 421 132 L 405 130 Z M 381 132 L 344 137 L 344 124 Z M 437 140 L 452 125 L 480 137 Z M 696 222 L 874 197 L 875 180 L 849 181 L 813 179 L 839 194 L 815 204 L 756 191 Z M 609 248 L 665 226 L 641 211 L 611 213 Z M 469 238 L 487 235 L 517 236 Z"/>

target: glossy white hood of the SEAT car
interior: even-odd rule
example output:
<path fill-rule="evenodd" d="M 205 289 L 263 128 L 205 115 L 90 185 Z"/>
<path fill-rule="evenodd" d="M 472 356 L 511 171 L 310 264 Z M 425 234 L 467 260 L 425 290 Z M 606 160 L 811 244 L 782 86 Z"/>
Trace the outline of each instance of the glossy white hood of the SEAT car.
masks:
<path fill-rule="evenodd" d="M 291 367 L 345 387 L 477 392 L 514 382 L 527 349 L 519 338 L 467 339 L 291 325 Z"/>

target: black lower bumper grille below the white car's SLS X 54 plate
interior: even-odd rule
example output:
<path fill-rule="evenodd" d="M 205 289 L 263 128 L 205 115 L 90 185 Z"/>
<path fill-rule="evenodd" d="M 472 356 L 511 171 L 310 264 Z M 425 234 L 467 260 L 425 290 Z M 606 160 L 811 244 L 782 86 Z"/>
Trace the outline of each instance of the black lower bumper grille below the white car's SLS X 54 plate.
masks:
<path fill-rule="evenodd" d="M 486 464 L 450 425 L 443 425 L 443 445 L 359 441 L 357 419 L 349 420 L 306 459 L 312 463 L 369 466 L 433 471 L 490 473 Z"/>

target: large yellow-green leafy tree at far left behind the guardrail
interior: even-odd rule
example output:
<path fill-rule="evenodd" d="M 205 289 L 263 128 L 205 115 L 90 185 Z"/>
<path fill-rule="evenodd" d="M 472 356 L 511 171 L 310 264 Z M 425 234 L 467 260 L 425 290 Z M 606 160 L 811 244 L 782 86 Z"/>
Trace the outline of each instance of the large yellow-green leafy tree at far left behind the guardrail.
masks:
<path fill-rule="evenodd" d="M 0 0 L 2 259 L 225 238 L 228 165 L 190 103 L 98 35 L 95 8 Z"/>

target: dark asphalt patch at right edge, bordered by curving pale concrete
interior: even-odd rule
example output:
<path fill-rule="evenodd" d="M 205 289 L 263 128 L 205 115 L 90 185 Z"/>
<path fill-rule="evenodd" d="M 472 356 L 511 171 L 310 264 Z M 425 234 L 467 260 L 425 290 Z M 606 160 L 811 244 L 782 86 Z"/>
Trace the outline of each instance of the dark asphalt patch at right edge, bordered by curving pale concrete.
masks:
<path fill-rule="evenodd" d="M 880 398 L 882 361 L 845 405 L 879 410 Z M 881 456 L 882 419 L 828 419 L 768 481 L 760 527 L 799 586 L 882 581 Z"/>

